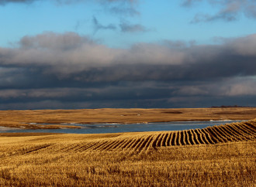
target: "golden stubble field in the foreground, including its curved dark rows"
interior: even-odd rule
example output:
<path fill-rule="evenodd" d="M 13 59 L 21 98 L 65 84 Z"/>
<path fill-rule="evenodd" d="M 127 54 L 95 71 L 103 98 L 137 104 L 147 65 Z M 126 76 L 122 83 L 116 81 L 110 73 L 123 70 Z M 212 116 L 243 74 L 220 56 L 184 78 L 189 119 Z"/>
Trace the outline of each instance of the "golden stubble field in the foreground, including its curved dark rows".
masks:
<path fill-rule="evenodd" d="M 189 131 L 0 134 L 1 186 L 255 186 L 256 119 Z"/>

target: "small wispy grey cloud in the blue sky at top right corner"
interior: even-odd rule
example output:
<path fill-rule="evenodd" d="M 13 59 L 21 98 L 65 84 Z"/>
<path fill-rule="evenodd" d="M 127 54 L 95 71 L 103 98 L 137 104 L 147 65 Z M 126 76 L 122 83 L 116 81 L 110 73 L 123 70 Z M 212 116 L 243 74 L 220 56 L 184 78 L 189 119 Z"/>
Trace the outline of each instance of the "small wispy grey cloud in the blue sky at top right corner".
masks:
<path fill-rule="evenodd" d="M 202 12 L 198 13 L 195 15 L 194 19 L 192 19 L 192 23 L 213 22 L 216 20 L 232 22 L 237 20 L 241 13 L 249 18 L 256 19 L 256 2 L 254 0 L 185 0 L 182 5 L 191 8 L 193 5 L 200 2 L 208 2 L 216 8 L 220 7 L 220 10 L 213 15 Z"/>

